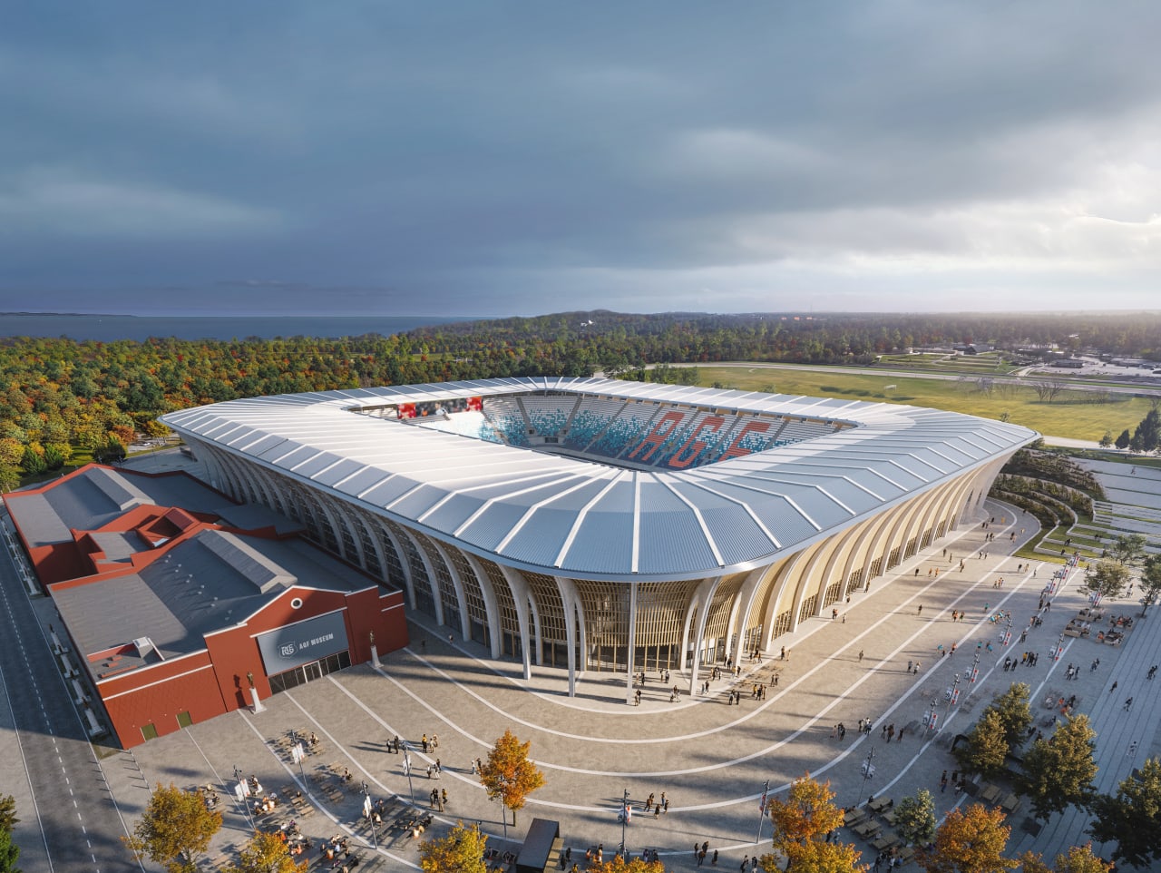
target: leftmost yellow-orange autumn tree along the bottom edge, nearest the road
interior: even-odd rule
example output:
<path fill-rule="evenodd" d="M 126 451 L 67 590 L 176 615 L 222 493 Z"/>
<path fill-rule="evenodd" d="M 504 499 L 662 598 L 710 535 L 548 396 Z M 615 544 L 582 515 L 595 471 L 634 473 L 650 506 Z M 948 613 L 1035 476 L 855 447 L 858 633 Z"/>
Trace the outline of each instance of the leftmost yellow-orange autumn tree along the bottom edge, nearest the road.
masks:
<path fill-rule="evenodd" d="M 159 782 L 132 836 L 121 839 L 138 860 L 149 858 L 170 873 L 193 873 L 221 828 L 222 814 L 209 809 L 200 794 Z"/>

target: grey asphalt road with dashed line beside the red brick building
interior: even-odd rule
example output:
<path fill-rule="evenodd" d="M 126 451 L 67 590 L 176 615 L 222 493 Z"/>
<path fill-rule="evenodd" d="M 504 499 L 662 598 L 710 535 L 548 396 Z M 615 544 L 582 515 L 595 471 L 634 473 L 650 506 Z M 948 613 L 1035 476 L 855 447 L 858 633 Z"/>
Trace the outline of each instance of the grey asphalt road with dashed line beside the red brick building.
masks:
<path fill-rule="evenodd" d="M 0 547 L 0 784 L 16 798 L 29 873 L 140 871 L 125 827 L 7 547 Z"/>

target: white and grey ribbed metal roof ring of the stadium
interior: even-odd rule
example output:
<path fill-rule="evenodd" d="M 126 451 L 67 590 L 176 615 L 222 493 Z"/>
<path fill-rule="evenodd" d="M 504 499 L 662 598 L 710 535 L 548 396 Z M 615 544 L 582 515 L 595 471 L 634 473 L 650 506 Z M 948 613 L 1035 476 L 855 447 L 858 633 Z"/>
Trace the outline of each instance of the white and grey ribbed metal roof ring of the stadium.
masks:
<path fill-rule="evenodd" d="M 614 466 L 416 427 L 362 407 L 549 391 L 842 427 L 686 469 Z M 498 378 L 229 401 L 166 414 L 204 442 L 467 551 L 577 578 L 770 563 L 1030 442 L 953 412 L 604 378 Z"/>

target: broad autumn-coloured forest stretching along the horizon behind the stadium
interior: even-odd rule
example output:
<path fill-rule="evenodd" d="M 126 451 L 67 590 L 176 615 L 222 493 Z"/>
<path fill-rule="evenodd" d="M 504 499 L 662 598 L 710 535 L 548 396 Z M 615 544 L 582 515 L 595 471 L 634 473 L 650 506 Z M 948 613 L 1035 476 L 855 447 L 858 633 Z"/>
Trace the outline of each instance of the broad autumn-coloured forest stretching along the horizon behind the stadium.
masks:
<path fill-rule="evenodd" d="M 269 394 L 498 376 L 627 374 L 649 363 L 872 365 L 913 346 L 1101 349 L 1161 360 L 1159 313 L 659 315 L 562 312 L 342 339 L 0 339 L 0 486 L 102 456 L 156 418 Z M 651 378 L 688 378 L 665 368 Z M 640 373 L 639 373 L 640 375 Z M 107 455 L 106 455 L 107 456 Z"/>

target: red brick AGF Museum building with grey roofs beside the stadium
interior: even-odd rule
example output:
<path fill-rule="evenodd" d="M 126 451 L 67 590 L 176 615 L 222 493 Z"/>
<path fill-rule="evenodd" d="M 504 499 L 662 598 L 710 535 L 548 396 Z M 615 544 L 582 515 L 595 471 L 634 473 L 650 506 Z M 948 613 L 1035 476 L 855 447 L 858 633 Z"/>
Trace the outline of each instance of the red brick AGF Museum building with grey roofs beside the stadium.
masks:
<path fill-rule="evenodd" d="M 5 499 L 124 748 L 406 644 L 401 591 L 185 474 L 94 464 Z"/>

